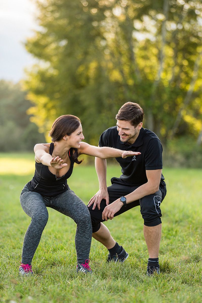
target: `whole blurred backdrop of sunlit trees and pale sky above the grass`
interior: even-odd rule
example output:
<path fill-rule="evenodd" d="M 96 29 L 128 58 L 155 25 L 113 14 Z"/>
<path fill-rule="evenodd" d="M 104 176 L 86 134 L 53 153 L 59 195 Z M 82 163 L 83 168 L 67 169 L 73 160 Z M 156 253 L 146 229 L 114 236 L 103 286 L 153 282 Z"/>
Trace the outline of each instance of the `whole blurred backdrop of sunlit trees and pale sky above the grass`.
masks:
<path fill-rule="evenodd" d="M 131 101 L 165 165 L 202 167 L 200 0 L 12 0 L 0 17 L 1 152 L 50 140 L 63 114 L 97 145 Z"/>

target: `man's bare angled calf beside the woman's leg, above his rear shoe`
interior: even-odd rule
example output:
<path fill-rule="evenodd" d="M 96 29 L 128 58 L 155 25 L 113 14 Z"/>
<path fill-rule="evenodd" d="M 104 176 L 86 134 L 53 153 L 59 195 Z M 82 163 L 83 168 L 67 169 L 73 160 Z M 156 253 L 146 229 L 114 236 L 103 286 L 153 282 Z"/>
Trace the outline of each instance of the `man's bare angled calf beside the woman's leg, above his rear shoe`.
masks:
<path fill-rule="evenodd" d="M 116 244 L 116 241 L 112 238 L 110 231 L 103 224 L 100 223 L 100 229 L 92 234 L 93 238 L 102 243 L 107 249 L 111 249 Z"/>

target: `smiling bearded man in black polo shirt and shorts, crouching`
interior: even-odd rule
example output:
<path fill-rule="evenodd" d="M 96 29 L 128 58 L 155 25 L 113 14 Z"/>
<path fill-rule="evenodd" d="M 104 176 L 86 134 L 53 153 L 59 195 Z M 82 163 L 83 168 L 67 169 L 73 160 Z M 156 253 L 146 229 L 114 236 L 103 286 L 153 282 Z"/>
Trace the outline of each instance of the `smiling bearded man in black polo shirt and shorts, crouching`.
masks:
<path fill-rule="evenodd" d="M 93 238 L 108 248 L 108 262 L 124 262 L 128 253 L 112 238 L 108 228 L 101 222 L 140 205 L 144 219 L 144 238 L 149 259 L 147 275 L 159 270 L 159 245 L 161 240 L 160 204 L 166 195 L 162 175 L 162 145 L 154 132 L 142 127 L 144 111 L 139 104 L 125 103 L 116 115 L 117 126 L 108 128 L 100 137 L 99 146 L 139 151 L 141 155 L 126 159 L 116 158 L 122 175 L 106 184 L 106 159 L 95 158 L 99 191 L 91 198 L 88 208 L 91 215 Z"/>

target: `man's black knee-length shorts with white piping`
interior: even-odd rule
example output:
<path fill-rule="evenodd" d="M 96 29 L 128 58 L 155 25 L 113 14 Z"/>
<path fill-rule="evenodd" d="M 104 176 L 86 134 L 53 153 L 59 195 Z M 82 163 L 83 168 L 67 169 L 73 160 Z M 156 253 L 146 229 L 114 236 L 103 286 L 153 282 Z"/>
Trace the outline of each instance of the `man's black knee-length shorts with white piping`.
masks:
<path fill-rule="evenodd" d="M 111 186 L 108 187 L 109 204 L 111 204 L 121 196 L 130 194 L 138 187 L 139 186 L 130 186 L 125 184 L 113 183 Z M 148 195 L 139 200 L 128 203 L 126 207 L 122 206 L 121 209 L 116 214 L 114 214 L 114 217 L 121 215 L 125 211 L 135 206 L 140 205 L 140 212 L 142 218 L 144 219 L 144 225 L 146 226 L 159 225 L 161 224 L 161 216 L 162 216 L 160 204 L 163 201 L 165 195 L 166 195 L 166 184 L 164 181 L 161 181 L 158 191 L 156 191 L 152 195 Z M 88 207 L 91 215 L 93 232 L 98 231 L 100 229 L 100 222 L 105 221 L 102 220 L 102 212 L 105 206 L 106 206 L 106 200 L 102 199 L 100 203 L 100 210 L 98 209 L 97 206 L 95 207 L 94 210 L 92 210 L 93 204 L 90 207 Z"/>

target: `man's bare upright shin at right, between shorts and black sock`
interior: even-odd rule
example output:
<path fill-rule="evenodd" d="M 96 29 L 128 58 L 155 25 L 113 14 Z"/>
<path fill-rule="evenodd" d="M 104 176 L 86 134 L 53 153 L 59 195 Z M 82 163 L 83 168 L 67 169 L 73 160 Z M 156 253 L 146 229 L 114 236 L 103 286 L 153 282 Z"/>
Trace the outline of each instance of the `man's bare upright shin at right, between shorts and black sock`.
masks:
<path fill-rule="evenodd" d="M 161 241 L 161 224 L 156 226 L 144 225 L 144 238 L 147 243 L 149 258 L 158 258 Z"/>

